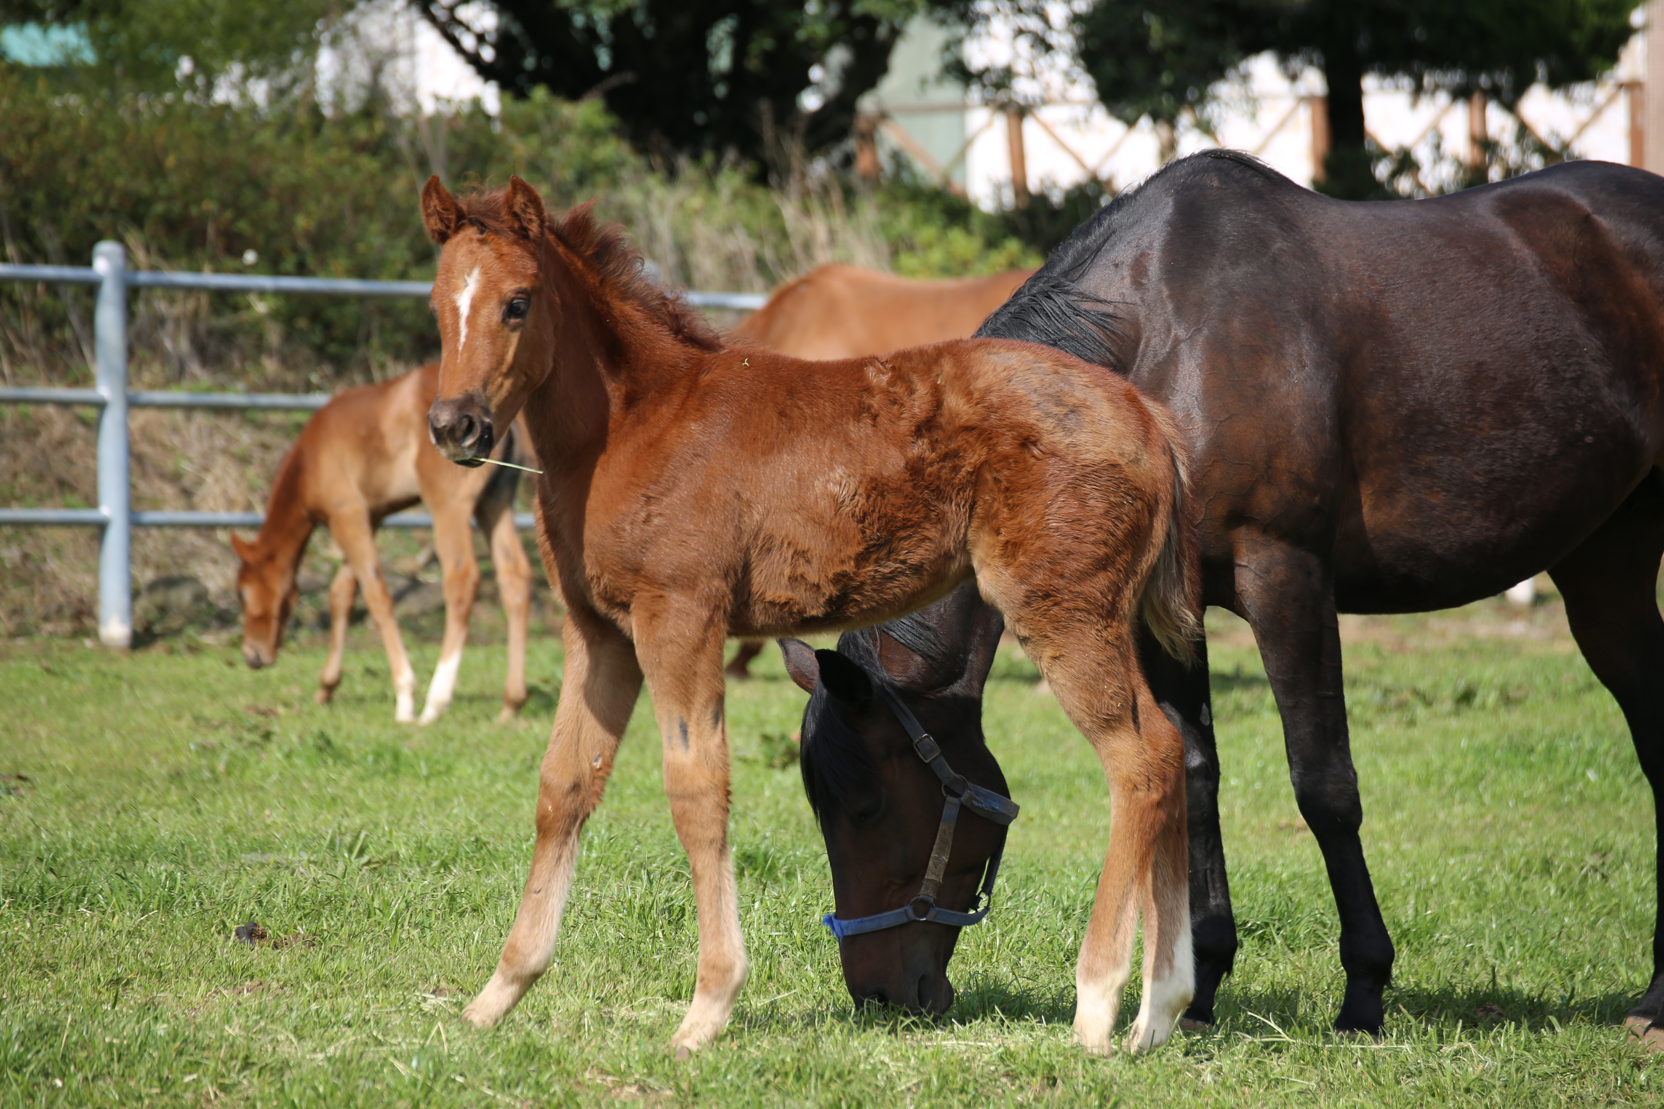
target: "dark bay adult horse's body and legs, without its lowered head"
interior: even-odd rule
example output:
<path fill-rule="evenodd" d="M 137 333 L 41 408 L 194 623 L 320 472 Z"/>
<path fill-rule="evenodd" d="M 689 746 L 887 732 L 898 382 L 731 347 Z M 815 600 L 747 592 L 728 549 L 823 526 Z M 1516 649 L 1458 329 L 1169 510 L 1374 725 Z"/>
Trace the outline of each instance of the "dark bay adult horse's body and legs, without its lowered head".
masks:
<path fill-rule="evenodd" d="M 1335 890 L 1338 1029 L 1379 1033 L 1393 969 L 1359 840 L 1338 612 L 1461 605 L 1546 569 L 1629 722 L 1664 831 L 1664 178 L 1566 163 L 1345 203 L 1206 151 L 1078 228 L 978 334 L 1107 366 L 1183 427 L 1203 599 L 1253 627 Z M 1211 1023 L 1236 924 L 1206 653 L 1186 667 L 1143 647 L 1185 735 L 1186 1019 Z M 920 715 L 927 697 L 904 685 Z M 1629 1026 L 1664 1046 L 1664 928 L 1652 956 Z"/>

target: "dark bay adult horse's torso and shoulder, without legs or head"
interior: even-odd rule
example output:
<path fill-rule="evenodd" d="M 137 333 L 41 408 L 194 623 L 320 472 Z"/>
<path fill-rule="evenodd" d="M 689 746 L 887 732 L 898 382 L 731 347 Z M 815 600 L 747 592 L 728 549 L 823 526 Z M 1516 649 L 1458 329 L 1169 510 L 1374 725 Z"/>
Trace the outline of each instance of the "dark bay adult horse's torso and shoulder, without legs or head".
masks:
<path fill-rule="evenodd" d="M 1346 203 L 1206 170 L 1137 198 L 1078 283 L 1123 306 L 1125 369 L 1210 471 L 1210 562 L 1260 520 L 1333 550 L 1343 609 L 1463 604 L 1659 464 L 1664 180 L 1571 163 Z"/>

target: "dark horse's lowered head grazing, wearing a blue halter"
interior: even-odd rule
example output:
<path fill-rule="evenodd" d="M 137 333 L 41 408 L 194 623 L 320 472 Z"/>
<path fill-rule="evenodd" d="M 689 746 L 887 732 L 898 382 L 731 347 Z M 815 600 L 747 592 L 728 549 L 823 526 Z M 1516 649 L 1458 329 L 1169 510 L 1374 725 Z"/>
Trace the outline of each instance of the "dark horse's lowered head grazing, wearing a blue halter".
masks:
<path fill-rule="evenodd" d="M 849 632 L 839 648 L 782 640 L 792 678 L 810 693 L 804 712 L 804 790 L 820 821 L 839 919 L 887 913 L 919 896 L 942 823 L 943 791 L 880 695 L 890 685 L 942 745 L 953 771 L 1007 795 L 982 738 L 982 685 L 1003 622 L 975 585 L 882 628 Z M 937 904 L 975 908 L 983 866 L 1005 828 L 972 810 L 955 826 Z M 844 983 L 857 1004 L 887 1001 L 940 1014 L 953 1004 L 947 963 L 958 928 L 912 921 L 840 941 Z"/>

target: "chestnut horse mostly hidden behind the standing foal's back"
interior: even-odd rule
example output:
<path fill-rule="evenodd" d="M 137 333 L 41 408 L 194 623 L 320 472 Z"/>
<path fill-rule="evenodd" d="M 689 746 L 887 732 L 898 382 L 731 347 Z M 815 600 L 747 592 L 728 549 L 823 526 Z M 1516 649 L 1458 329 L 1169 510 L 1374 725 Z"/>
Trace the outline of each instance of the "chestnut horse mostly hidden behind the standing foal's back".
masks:
<path fill-rule="evenodd" d="M 909 346 L 967 339 L 1035 271 L 915 281 L 877 269 L 827 263 L 782 284 L 740 321 L 734 338 L 807 359 L 865 357 Z M 727 665 L 749 678 L 762 640 L 744 640 Z"/>

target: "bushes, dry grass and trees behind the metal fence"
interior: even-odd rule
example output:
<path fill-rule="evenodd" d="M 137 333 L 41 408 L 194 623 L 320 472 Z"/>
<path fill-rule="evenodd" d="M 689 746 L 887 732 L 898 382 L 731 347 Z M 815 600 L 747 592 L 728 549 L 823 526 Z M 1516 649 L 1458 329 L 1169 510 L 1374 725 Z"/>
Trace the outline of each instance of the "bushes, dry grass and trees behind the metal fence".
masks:
<path fill-rule="evenodd" d="M 366 13 L 408 3 L 503 90 L 423 106 Z M 988 103 L 1010 68 L 972 70 L 990 27 L 1035 63 L 1095 81 L 1123 120 L 1205 110 L 1253 52 L 1518 98 L 1586 80 L 1631 33 L 1634 0 L 0 0 L 0 259 L 424 279 L 418 190 L 518 173 L 551 205 L 599 200 L 671 286 L 767 291 L 825 261 L 905 276 L 1038 264 L 1107 200 L 1088 183 L 983 211 L 912 163 L 857 171 L 855 101 L 900 30 L 957 28 L 945 60 Z M 378 50 L 381 53 L 378 53 Z M 952 67 L 950 67 L 952 68 Z M 1331 103 L 1338 195 L 1386 195 L 1389 155 Z M 1171 126 L 1168 126 L 1171 131 Z M 1356 143 L 1348 146 L 1351 140 Z M 870 170 L 870 166 L 867 166 Z M 735 318 L 719 318 L 732 324 Z M 419 301 L 143 291 L 136 387 L 333 391 L 434 354 Z M 92 296 L 0 283 L 0 381 L 85 384 Z M 290 414 L 133 416 L 141 509 L 263 507 Z M 0 504 L 95 502 L 92 412 L 0 406 Z M 135 575 L 188 572 L 228 597 L 223 535 L 140 532 Z M 0 633 L 90 627 L 97 534 L 0 534 Z"/>

